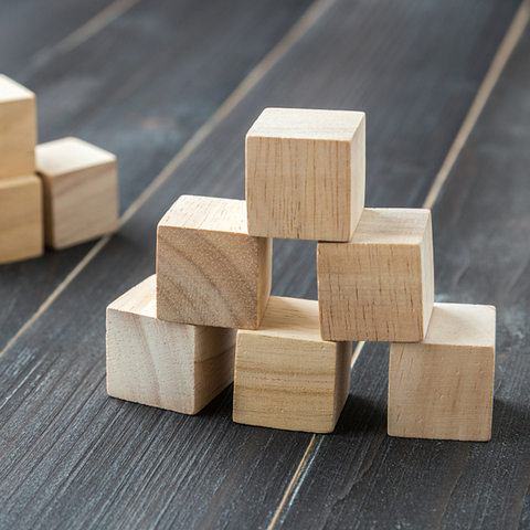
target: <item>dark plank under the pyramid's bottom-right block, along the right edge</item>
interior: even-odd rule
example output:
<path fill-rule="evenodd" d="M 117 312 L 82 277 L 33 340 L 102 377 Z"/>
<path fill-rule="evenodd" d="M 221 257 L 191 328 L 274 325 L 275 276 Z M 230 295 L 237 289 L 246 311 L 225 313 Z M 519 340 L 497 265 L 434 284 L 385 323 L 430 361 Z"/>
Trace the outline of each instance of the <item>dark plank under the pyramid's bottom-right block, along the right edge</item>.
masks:
<path fill-rule="evenodd" d="M 388 347 L 367 344 L 276 528 L 528 526 L 529 70 L 527 26 L 433 209 L 438 299 L 498 308 L 491 442 L 386 437 Z"/>

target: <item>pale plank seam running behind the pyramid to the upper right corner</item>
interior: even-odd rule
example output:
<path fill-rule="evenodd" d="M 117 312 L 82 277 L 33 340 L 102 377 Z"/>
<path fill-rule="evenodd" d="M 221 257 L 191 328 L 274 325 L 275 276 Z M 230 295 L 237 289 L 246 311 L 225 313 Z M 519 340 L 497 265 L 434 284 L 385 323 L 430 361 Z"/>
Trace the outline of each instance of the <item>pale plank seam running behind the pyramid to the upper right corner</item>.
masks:
<path fill-rule="evenodd" d="M 488 68 L 488 72 L 483 83 L 480 84 L 477 95 L 475 96 L 471 103 L 471 106 L 469 107 L 467 116 L 464 119 L 464 123 L 462 124 L 460 129 L 458 130 L 455 137 L 455 141 L 453 142 L 453 146 L 451 147 L 442 165 L 442 168 L 436 174 L 436 178 L 427 193 L 427 197 L 425 198 L 425 201 L 423 202 L 422 208 L 432 209 L 437 198 L 439 197 L 444 182 L 446 181 L 451 170 L 453 169 L 456 162 L 456 159 L 458 158 L 458 155 L 464 148 L 464 145 L 473 127 L 475 126 L 483 108 L 485 107 L 487 100 L 489 99 L 489 96 L 497 83 L 497 80 L 500 77 L 506 64 L 508 63 L 508 60 L 513 53 L 513 50 L 517 43 L 519 42 L 520 38 L 522 36 L 522 33 L 528 26 L 529 22 L 530 22 L 530 0 L 523 0 L 522 4 L 519 7 L 516 15 L 513 17 L 513 21 L 508 28 L 508 31 L 506 32 L 505 38 L 502 39 L 502 42 L 491 62 L 491 65 Z M 364 344 L 365 342 L 358 343 L 356 350 L 353 351 L 351 368 L 353 368 L 357 359 L 361 354 Z M 317 436 L 321 437 L 321 435 L 314 435 L 315 439 L 311 438 L 311 441 L 309 442 L 308 448 L 306 449 L 306 453 L 304 454 L 304 457 L 300 460 L 300 464 L 295 473 L 296 477 L 294 476 L 292 483 L 289 483 L 284 496 L 282 497 L 282 501 L 278 506 L 278 509 L 275 512 L 269 526 L 267 527 L 267 530 L 274 530 L 274 528 L 276 527 L 282 516 L 282 511 L 285 508 L 292 491 L 296 489 L 296 483 L 298 481 L 298 477 L 300 477 L 301 475 L 303 468 L 306 467 L 306 463 L 308 460 L 309 454 L 311 453 L 310 449 L 314 447 Z"/>

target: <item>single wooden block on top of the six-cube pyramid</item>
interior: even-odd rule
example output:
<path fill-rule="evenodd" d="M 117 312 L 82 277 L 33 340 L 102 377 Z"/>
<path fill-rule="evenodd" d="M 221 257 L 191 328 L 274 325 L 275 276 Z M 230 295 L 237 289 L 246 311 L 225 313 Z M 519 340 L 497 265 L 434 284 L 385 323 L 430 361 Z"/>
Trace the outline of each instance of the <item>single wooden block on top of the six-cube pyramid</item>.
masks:
<path fill-rule="evenodd" d="M 246 135 L 248 233 L 349 241 L 364 206 L 364 113 L 266 108 Z"/>

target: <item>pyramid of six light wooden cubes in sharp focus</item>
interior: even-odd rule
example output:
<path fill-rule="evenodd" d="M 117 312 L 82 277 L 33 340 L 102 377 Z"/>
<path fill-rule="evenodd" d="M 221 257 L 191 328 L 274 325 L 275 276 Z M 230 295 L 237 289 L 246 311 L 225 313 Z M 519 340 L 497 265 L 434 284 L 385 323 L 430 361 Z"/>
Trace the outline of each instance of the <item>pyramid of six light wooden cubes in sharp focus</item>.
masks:
<path fill-rule="evenodd" d="M 246 201 L 172 205 L 157 274 L 107 309 L 109 395 L 194 414 L 234 381 L 235 422 L 329 433 L 352 341 L 386 341 L 389 434 L 489 439 L 495 308 L 434 303 L 430 210 L 364 208 L 364 124 L 265 109 Z M 318 301 L 269 297 L 274 237 L 318 241 Z"/>

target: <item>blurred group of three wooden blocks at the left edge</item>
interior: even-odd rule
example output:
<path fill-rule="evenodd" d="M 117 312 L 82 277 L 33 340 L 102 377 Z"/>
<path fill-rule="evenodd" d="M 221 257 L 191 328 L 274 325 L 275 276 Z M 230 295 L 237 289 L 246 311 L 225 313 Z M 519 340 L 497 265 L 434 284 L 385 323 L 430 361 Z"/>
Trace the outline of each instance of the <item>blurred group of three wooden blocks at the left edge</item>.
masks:
<path fill-rule="evenodd" d="M 76 138 L 36 146 L 35 95 L 0 75 L 0 264 L 117 227 L 116 157 Z"/>

